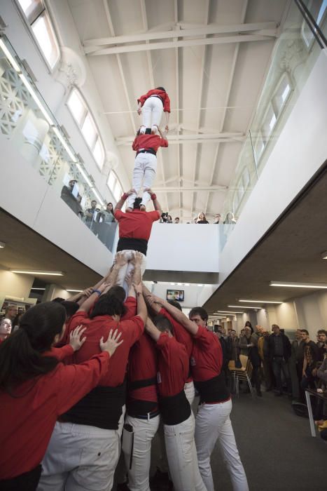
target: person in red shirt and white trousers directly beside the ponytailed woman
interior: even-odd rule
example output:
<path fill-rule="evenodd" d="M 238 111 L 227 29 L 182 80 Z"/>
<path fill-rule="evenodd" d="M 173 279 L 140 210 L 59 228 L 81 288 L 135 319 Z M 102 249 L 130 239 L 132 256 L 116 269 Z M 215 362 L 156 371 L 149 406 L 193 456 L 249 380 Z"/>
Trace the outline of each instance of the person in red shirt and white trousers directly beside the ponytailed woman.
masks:
<path fill-rule="evenodd" d="M 118 258 L 119 260 L 119 258 Z M 39 491 L 62 489 L 94 489 L 109 491 L 118 464 L 120 436 L 125 413 L 126 370 L 132 345 L 144 332 L 147 318 L 146 304 L 141 294 L 140 262 L 135 262 L 134 289 L 137 295 L 137 316 L 120 321 L 125 306 L 106 290 L 99 292 L 81 305 L 71 318 L 70 329 L 76 325 L 86 327 L 87 339 L 72 356 L 73 363 L 83 363 L 99 351 L 99 339 L 112 329 L 122 332 L 124 343 L 118 356 L 111 358 L 112 370 L 104 374 L 95 389 L 81 398 L 70 410 L 61 415 L 55 425 L 46 456 L 42 462 Z M 98 296 L 92 313 L 88 311 Z"/>

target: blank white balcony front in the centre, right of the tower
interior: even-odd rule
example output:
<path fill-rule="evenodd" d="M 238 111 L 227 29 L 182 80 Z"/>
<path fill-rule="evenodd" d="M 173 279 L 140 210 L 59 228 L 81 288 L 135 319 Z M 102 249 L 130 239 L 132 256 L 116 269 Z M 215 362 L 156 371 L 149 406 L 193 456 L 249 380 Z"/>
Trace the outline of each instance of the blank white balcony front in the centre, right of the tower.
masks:
<path fill-rule="evenodd" d="M 147 268 L 218 272 L 218 228 L 214 224 L 201 229 L 197 224 L 153 224 Z"/>

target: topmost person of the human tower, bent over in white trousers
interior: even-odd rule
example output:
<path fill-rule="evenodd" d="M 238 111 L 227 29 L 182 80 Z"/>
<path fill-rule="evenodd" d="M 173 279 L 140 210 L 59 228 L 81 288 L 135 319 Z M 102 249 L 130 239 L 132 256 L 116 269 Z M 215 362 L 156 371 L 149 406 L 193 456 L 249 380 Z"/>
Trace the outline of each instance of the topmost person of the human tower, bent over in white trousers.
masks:
<path fill-rule="evenodd" d="M 160 125 L 162 111 L 166 114 L 166 127 L 165 130 L 168 131 L 169 123 L 169 113 L 170 113 L 170 99 L 165 88 L 157 87 L 144 95 L 141 95 L 137 100 L 139 103 L 137 107 L 138 114 L 142 113 L 143 123 L 140 128 L 141 133 L 146 132 L 146 128 L 151 128 L 151 133 L 153 135 L 157 133 Z M 143 107 L 143 109 L 141 109 Z"/>

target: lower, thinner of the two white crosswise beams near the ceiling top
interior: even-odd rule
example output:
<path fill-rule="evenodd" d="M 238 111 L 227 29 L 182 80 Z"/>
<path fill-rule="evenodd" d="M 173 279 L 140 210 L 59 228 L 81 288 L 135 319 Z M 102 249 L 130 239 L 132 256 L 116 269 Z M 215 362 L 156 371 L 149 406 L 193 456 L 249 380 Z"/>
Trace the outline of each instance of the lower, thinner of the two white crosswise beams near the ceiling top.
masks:
<path fill-rule="evenodd" d="M 228 43 L 249 43 L 252 41 L 270 41 L 277 36 L 274 31 L 269 31 L 268 34 L 239 34 L 235 36 L 210 37 L 205 39 L 188 39 L 187 41 L 167 41 L 162 43 L 149 44 L 131 44 L 128 46 L 115 46 L 113 48 L 103 48 L 94 51 L 93 53 L 85 54 L 90 56 L 100 55 L 117 55 L 118 53 L 134 53 L 139 51 L 150 51 L 170 48 L 186 48 L 188 46 L 207 46 L 209 44 L 228 44 Z"/>

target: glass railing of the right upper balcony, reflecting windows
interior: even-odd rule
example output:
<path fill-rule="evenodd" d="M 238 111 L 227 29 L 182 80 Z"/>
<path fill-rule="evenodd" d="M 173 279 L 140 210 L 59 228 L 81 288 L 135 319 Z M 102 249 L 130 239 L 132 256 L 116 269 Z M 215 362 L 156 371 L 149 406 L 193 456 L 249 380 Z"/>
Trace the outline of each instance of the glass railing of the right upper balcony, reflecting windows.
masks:
<path fill-rule="evenodd" d="M 321 32 L 327 32 L 327 1 L 302 0 Z M 256 113 L 223 203 L 223 220 L 237 222 L 253 187 L 260 179 L 272 149 L 279 139 L 288 117 L 298 100 L 314 63 L 321 53 L 321 43 L 309 29 L 295 2 L 289 6 L 279 39 L 274 46 L 272 61 L 263 86 Z M 234 226 L 221 233 L 221 249 L 228 242 Z M 223 231 L 222 231 L 223 232 Z"/>

